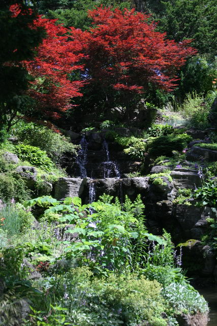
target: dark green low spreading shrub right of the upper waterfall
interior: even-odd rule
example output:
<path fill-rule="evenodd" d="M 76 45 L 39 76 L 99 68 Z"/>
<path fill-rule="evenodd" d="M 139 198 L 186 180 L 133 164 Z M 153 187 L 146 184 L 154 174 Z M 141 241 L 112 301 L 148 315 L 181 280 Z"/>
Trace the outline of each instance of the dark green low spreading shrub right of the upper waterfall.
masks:
<path fill-rule="evenodd" d="M 148 152 L 152 156 L 171 156 L 172 151 L 181 151 L 192 141 L 192 137 L 186 133 L 166 136 L 160 136 L 153 139 L 148 145 Z"/>

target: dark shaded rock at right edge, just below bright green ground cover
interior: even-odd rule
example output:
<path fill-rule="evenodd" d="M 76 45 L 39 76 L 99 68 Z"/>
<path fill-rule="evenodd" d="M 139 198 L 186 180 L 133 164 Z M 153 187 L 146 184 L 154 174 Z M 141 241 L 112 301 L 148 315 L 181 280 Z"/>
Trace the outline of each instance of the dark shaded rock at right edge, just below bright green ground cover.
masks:
<path fill-rule="evenodd" d="M 187 159 L 192 161 L 197 161 L 197 160 L 206 160 L 208 162 L 216 161 L 217 151 L 213 151 L 211 149 L 203 148 L 199 146 L 193 146 L 187 152 Z"/>

